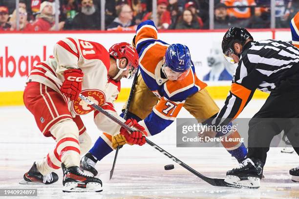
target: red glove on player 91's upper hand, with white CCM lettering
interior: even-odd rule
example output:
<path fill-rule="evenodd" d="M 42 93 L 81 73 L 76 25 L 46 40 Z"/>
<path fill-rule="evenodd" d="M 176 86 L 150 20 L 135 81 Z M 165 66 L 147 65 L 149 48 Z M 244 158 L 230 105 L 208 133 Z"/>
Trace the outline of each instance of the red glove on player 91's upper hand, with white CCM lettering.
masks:
<path fill-rule="evenodd" d="M 64 83 L 60 91 L 70 100 L 79 97 L 82 90 L 83 72 L 80 69 L 68 69 L 64 71 Z"/>

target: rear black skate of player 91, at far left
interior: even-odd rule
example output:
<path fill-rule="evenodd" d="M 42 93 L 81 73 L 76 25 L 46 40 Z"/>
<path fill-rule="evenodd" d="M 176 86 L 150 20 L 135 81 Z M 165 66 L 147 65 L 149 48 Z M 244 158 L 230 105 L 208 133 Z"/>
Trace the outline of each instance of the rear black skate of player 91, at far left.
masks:
<path fill-rule="evenodd" d="M 24 174 L 24 180 L 20 182 L 20 184 L 28 184 L 28 183 L 43 183 L 43 184 L 52 184 L 58 180 L 58 175 L 54 172 L 49 173 L 45 176 L 41 174 L 36 167 L 36 163 L 34 162 L 30 170 Z"/>

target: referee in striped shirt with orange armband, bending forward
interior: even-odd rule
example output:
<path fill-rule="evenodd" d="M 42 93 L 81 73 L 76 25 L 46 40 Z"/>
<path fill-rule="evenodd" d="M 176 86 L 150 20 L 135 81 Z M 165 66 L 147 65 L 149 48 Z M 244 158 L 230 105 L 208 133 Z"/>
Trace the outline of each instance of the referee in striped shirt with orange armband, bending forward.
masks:
<path fill-rule="evenodd" d="M 244 28 L 230 28 L 222 40 L 225 58 L 238 63 L 216 125 L 235 119 L 256 89 L 270 96 L 249 122 L 248 155 L 226 182 L 258 188 L 270 142 L 282 130 L 299 154 L 299 49 L 279 40 L 254 41 Z M 298 130 L 297 130 L 298 129 Z"/>

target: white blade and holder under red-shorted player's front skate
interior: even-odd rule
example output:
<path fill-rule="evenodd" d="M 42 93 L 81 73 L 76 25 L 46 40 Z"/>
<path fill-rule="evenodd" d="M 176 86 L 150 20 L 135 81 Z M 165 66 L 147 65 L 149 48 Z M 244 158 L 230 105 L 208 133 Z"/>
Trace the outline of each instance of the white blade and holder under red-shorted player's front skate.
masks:
<path fill-rule="evenodd" d="M 102 185 L 99 183 L 88 182 L 86 188 L 78 187 L 77 182 L 66 182 L 64 184 L 63 192 L 101 192 L 103 191 Z"/>

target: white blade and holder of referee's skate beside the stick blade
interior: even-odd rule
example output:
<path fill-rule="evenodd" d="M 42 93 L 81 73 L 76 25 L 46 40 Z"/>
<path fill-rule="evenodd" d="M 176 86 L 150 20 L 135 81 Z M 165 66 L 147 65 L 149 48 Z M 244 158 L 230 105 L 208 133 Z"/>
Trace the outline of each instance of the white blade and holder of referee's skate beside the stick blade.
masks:
<path fill-rule="evenodd" d="M 226 176 L 224 179 L 228 186 L 237 188 L 258 189 L 260 187 L 260 179 L 256 177 L 248 177 L 246 180 L 240 180 L 237 176 Z"/>

